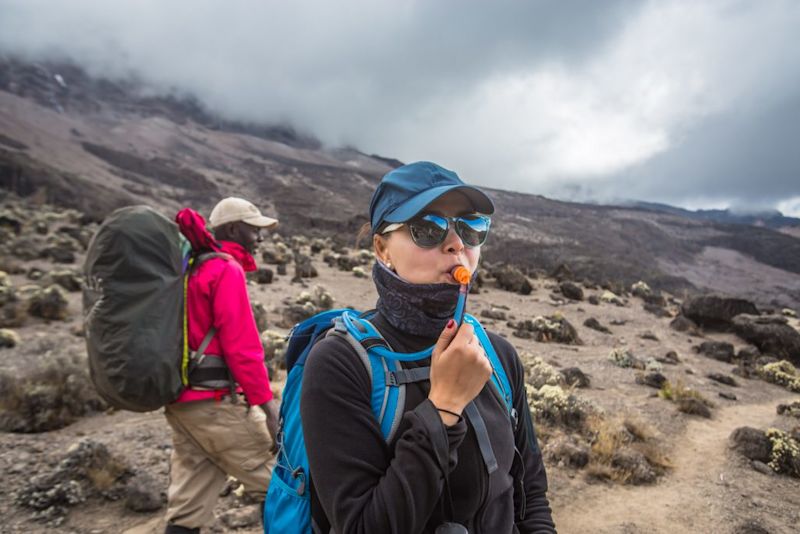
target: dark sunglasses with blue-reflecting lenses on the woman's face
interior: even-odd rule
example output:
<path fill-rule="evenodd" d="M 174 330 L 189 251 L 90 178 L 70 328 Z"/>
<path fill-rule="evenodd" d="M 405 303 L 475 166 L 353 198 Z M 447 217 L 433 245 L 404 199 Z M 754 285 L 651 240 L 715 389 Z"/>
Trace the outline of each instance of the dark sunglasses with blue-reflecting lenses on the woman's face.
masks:
<path fill-rule="evenodd" d="M 404 222 L 390 224 L 381 234 L 393 232 L 403 225 L 408 226 L 411 239 L 418 247 L 432 248 L 440 245 L 447 238 L 452 226 L 456 235 L 467 248 L 479 247 L 489 235 L 492 219 L 486 215 L 462 215 L 460 217 L 444 217 L 434 213 L 426 213 Z"/>

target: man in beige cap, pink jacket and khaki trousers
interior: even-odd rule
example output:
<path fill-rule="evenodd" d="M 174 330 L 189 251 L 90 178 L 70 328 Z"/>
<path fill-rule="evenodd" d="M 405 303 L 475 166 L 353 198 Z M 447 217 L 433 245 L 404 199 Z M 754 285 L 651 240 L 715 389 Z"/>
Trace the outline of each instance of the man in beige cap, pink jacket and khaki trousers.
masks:
<path fill-rule="evenodd" d="M 187 236 L 206 232 L 200 221 L 179 215 Z M 190 366 L 189 387 L 165 409 L 173 441 L 167 534 L 198 533 L 210 523 L 228 475 L 263 506 L 275 461 L 278 406 L 245 272 L 256 268 L 252 254 L 262 229 L 277 224 L 247 200 L 226 198 L 209 217 L 220 252 L 200 255 L 191 267 L 189 348 L 204 356 Z"/>

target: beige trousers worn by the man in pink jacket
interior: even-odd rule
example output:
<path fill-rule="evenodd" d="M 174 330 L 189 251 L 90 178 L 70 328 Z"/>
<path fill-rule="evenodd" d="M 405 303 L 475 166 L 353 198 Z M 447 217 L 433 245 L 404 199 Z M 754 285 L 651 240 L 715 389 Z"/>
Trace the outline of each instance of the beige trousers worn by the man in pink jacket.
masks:
<path fill-rule="evenodd" d="M 173 443 L 167 522 L 187 528 L 209 524 L 228 475 L 264 500 L 275 459 L 261 408 L 224 399 L 170 404 L 165 414 Z"/>

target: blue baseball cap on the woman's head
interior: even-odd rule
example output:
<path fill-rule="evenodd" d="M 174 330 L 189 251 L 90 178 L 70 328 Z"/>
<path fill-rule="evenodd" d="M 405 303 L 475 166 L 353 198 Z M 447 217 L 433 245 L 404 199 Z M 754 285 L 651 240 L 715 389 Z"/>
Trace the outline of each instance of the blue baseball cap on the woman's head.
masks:
<path fill-rule="evenodd" d="M 453 190 L 464 193 L 476 212 L 494 213 L 494 204 L 486 193 L 465 184 L 453 171 L 430 161 L 418 161 L 389 171 L 381 178 L 369 203 L 372 231 L 385 222 L 413 219 L 425 206 Z"/>

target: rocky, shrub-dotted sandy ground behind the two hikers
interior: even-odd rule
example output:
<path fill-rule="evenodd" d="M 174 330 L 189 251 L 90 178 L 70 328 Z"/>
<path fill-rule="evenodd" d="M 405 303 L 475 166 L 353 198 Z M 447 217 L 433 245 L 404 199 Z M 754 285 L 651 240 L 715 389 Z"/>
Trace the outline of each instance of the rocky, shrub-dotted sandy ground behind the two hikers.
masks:
<path fill-rule="evenodd" d="M 75 271 L 92 231 L 78 212 L 0 208 L 2 532 L 163 529 L 163 415 L 108 410 L 86 375 Z M 371 307 L 372 258 L 288 236 L 262 252 L 250 291 L 279 393 L 282 335 L 320 309 Z M 552 275 L 484 265 L 468 311 L 525 362 L 559 530 L 796 532 L 794 312 Z M 212 531 L 259 531 L 237 487 Z"/>

